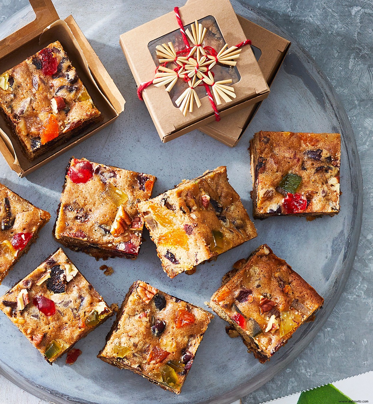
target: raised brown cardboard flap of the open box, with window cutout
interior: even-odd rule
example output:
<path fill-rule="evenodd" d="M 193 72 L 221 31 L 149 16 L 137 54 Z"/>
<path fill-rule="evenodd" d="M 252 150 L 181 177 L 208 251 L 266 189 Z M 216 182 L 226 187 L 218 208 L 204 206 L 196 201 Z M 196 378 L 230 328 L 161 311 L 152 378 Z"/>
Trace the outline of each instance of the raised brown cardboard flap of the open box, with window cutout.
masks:
<path fill-rule="evenodd" d="M 18 29 L 0 41 L 0 59 L 9 55 L 13 50 L 25 44 L 36 35 L 43 32 L 43 29 L 59 19 L 56 9 L 51 0 L 29 0 L 36 18 L 31 23 Z"/>

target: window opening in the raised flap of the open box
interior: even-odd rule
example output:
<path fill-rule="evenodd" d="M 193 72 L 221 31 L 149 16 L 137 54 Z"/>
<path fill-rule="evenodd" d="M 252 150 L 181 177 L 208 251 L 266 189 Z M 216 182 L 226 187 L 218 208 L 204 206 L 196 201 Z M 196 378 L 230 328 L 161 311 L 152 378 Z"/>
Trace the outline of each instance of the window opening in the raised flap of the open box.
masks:
<path fill-rule="evenodd" d="M 0 40 L 18 31 L 18 29 L 35 19 L 36 14 L 28 0 L 11 0 L 6 2 L 0 0 Z"/>

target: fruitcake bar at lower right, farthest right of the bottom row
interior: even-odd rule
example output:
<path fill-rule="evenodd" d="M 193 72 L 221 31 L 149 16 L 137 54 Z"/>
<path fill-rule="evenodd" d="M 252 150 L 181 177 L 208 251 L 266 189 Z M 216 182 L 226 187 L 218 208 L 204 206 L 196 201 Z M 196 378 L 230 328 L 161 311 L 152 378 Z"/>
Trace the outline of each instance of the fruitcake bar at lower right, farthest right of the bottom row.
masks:
<path fill-rule="evenodd" d="M 323 305 L 318 295 L 266 245 L 237 261 L 209 306 L 264 363 Z"/>

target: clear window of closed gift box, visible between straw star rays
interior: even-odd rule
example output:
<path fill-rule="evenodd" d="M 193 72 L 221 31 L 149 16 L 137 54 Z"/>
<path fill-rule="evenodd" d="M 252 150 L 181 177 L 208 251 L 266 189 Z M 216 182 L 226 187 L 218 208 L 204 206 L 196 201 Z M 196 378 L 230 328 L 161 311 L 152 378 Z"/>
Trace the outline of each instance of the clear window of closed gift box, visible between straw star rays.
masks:
<path fill-rule="evenodd" d="M 218 23 L 216 22 L 216 19 L 214 17 L 212 17 L 212 15 L 209 15 L 207 17 L 200 19 L 198 22 L 201 23 L 203 25 L 203 27 L 205 27 L 207 29 L 205 38 L 202 42 L 202 46 L 211 46 L 212 48 L 214 48 L 216 50 L 216 52 L 219 52 L 219 50 L 226 44 L 226 42 L 222 36 L 222 33 L 220 31 Z M 185 29 L 186 28 L 189 28 L 189 31 L 191 31 L 191 25 L 186 25 Z M 158 61 L 155 47 L 157 45 L 167 44 L 168 42 L 172 42 L 176 52 L 185 49 L 185 44 L 182 39 L 180 29 L 176 29 L 175 31 L 170 32 L 169 34 L 164 35 L 161 38 L 157 38 L 157 39 L 149 42 L 148 49 L 153 57 L 154 63 L 157 66 L 159 65 L 159 61 Z M 189 40 L 189 43 L 191 44 L 190 40 Z M 233 44 L 229 44 L 229 46 L 232 46 L 232 45 Z M 191 46 L 193 46 L 193 44 L 191 44 Z M 258 49 L 258 51 L 260 52 L 259 49 Z M 182 55 L 182 56 L 187 56 L 187 54 Z M 169 69 L 174 69 L 174 68 L 176 68 L 176 66 L 177 66 L 176 63 L 167 64 L 167 67 Z M 215 81 L 231 79 L 232 84 L 235 84 L 235 83 L 239 82 L 239 80 L 241 79 L 241 76 L 240 76 L 236 66 L 230 67 L 227 65 L 216 64 L 213 67 L 212 72 L 214 72 Z M 184 80 L 180 79 L 176 82 L 174 87 L 170 90 L 169 94 L 170 94 L 170 97 L 171 97 L 172 102 L 174 103 L 175 107 L 177 107 L 175 104 L 176 99 L 178 99 L 178 97 L 180 97 L 180 95 L 183 93 L 183 91 L 186 88 L 187 88 L 187 84 L 184 82 Z M 203 86 L 196 87 L 195 90 L 197 91 L 198 97 L 200 99 L 203 97 L 206 97 L 206 90 Z"/>

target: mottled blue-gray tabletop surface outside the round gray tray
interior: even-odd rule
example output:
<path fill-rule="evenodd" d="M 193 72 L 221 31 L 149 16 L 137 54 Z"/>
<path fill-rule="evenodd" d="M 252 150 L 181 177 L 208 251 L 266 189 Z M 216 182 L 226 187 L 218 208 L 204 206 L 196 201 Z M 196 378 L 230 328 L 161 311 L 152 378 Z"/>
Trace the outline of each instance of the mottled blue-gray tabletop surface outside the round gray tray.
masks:
<path fill-rule="evenodd" d="M 8 15 L 10 6 L 18 7 L 19 3 L 22 1 L 0 0 L 0 21 Z M 323 331 L 289 368 L 243 400 L 245 404 L 257 404 L 373 370 L 373 170 L 369 154 L 373 137 L 373 0 L 247 3 L 296 38 L 334 86 L 354 129 L 365 190 L 360 244 L 341 299 Z M 61 17 L 66 17 L 63 2 L 55 4 Z M 79 4 L 82 6 L 84 1 Z"/>

